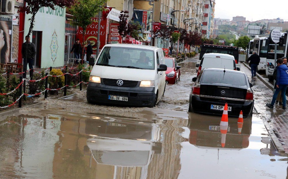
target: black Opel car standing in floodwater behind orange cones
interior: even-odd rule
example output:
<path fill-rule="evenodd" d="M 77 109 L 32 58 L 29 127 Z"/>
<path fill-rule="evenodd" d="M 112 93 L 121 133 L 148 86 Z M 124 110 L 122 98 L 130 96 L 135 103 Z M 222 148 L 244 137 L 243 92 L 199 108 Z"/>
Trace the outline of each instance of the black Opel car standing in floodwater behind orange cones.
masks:
<path fill-rule="evenodd" d="M 244 72 L 206 68 L 192 79 L 189 111 L 222 115 L 228 103 L 228 116 L 252 116 L 254 99 L 253 86 Z"/>

